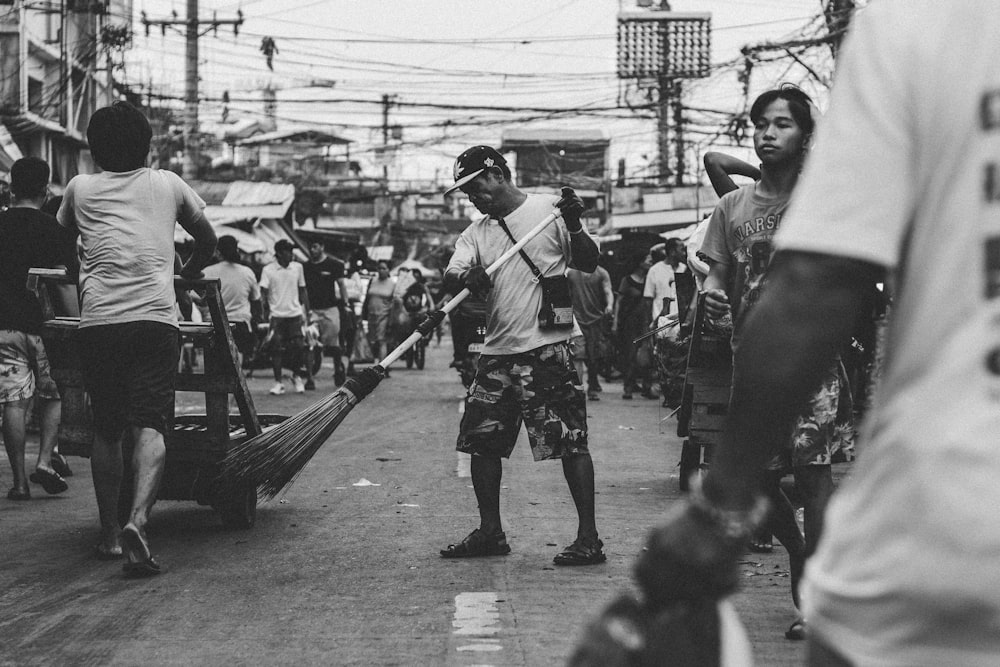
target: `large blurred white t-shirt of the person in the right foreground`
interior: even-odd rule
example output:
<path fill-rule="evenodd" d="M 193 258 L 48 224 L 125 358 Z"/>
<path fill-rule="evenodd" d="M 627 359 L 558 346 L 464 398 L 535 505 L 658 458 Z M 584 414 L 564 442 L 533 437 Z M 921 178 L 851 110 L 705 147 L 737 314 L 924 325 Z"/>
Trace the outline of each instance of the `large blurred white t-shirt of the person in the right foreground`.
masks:
<path fill-rule="evenodd" d="M 998 36 L 996 0 L 860 12 L 776 239 L 896 273 L 858 463 L 803 587 L 810 631 L 857 665 L 1000 665 Z"/>

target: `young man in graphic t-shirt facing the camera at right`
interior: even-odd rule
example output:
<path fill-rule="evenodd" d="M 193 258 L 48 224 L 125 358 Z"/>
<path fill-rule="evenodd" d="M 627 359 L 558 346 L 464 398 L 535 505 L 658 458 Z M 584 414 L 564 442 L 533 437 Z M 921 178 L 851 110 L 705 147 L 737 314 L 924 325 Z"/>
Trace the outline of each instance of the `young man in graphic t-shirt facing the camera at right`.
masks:
<path fill-rule="evenodd" d="M 747 313 L 766 289 L 774 237 L 798 181 L 815 124 L 812 101 L 792 87 L 760 95 L 751 107 L 750 119 L 754 123 L 754 149 L 761 161 L 761 178 L 719 200 L 701 247 L 709 260 L 705 312 L 711 318 L 732 316 L 734 350 L 739 349 Z M 774 504 L 769 525 L 789 554 L 796 607 L 805 559 L 816 548 L 823 511 L 833 493 L 830 466 L 840 443 L 836 430 L 840 389 L 838 363 L 831 366 L 790 437 L 774 443 L 778 454 L 768 466 L 767 489 Z M 803 500 L 804 536 L 778 484 L 789 471 L 795 475 Z M 793 622 L 786 637 L 804 639 L 804 621 Z"/>

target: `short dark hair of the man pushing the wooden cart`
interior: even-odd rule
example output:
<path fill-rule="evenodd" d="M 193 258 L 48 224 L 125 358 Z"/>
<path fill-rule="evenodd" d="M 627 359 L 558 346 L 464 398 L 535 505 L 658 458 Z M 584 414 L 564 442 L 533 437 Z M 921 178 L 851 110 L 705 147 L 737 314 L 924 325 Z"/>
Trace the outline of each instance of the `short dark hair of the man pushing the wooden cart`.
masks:
<path fill-rule="evenodd" d="M 87 125 L 90 154 L 105 171 L 132 171 L 146 166 L 152 138 L 146 116 L 122 100 L 95 111 Z"/>

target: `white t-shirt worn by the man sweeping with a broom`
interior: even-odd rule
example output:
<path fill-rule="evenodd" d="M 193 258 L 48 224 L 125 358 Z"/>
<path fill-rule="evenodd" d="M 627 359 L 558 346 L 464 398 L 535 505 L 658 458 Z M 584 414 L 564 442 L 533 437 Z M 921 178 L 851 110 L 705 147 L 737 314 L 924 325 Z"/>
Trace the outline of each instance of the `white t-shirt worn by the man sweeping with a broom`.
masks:
<path fill-rule="evenodd" d="M 521 240 L 545 216 L 553 211 L 558 197 L 529 194 L 528 198 L 504 218 L 514 238 Z M 584 229 L 579 232 L 586 234 Z M 447 271 L 465 271 L 472 266 L 489 267 L 513 246 L 496 220 L 486 217 L 469 225 L 455 243 L 455 253 Z M 524 247 L 543 276 L 565 275 L 572 261 L 569 232 L 559 220 L 551 223 Z M 543 345 L 569 340 L 572 330 L 542 331 L 538 311 L 542 306 L 542 288 L 534 281 L 528 264 L 514 255 L 492 276 L 493 289 L 487 299 L 486 338 L 483 354 L 517 354 Z"/>

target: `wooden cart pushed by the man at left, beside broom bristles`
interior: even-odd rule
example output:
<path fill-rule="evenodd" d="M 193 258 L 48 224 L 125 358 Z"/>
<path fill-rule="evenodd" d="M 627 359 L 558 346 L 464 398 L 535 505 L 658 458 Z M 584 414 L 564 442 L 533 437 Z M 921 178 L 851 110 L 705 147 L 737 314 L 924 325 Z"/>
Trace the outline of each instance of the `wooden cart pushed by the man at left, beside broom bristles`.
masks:
<path fill-rule="evenodd" d="M 76 332 L 79 317 L 60 313 L 61 285 L 75 283 L 58 269 L 32 269 L 28 288 L 39 299 L 44 317 L 42 338 L 52 366 L 52 376 L 62 395 L 62 420 L 59 425 L 59 451 L 64 455 L 90 457 L 93 444 L 93 415 L 83 388 Z M 192 343 L 203 352 L 203 373 L 181 373 L 176 378 L 176 390 L 200 392 L 205 395 L 205 413 L 171 416 L 165 434 L 166 465 L 158 498 L 161 500 L 194 500 L 199 505 L 211 505 L 227 527 L 250 528 L 257 508 L 255 488 L 223 488 L 216 482 L 219 462 L 243 440 L 258 435 L 263 428 L 277 424 L 286 417 L 258 415 L 253 397 L 237 363 L 236 345 L 229 328 L 229 319 L 220 296 L 218 280 L 183 280 L 175 278 L 179 289 L 196 290 L 204 294 L 211 322 L 181 322 L 182 343 Z M 238 415 L 229 414 L 229 397 L 235 398 Z M 128 434 L 122 444 L 125 461 L 131 459 Z M 132 506 L 131 466 L 125 466 L 119 519 L 128 519 Z"/>

